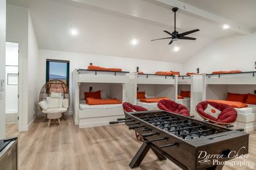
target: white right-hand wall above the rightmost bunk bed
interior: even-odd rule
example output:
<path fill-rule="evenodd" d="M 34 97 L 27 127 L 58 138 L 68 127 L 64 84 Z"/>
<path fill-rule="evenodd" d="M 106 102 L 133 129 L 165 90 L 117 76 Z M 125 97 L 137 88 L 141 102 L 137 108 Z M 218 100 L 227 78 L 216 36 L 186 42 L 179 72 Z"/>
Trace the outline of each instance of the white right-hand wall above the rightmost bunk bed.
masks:
<path fill-rule="evenodd" d="M 204 50 L 187 60 L 182 65 L 183 73 L 211 73 L 212 71 L 255 71 L 256 32 L 246 36 L 220 39 L 214 41 Z"/>

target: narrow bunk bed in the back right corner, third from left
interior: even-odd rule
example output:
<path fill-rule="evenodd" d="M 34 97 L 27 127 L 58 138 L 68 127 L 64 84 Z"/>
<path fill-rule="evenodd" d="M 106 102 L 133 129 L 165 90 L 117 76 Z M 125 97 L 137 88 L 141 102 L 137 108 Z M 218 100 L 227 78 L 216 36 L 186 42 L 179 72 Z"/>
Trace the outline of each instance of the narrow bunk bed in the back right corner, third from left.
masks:
<path fill-rule="evenodd" d="M 177 83 L 177 98 L 176 102 L 186 106 L 190 111 L 191 115 L 196 116 L 195 107 L 196 104 L 200 103 L 203 98 L 203 75 L 202 74 L 192 74 L 189 76 L 179 76 Z M 181 92 L 189 92 L 189 96 L 179 96 Z"/>

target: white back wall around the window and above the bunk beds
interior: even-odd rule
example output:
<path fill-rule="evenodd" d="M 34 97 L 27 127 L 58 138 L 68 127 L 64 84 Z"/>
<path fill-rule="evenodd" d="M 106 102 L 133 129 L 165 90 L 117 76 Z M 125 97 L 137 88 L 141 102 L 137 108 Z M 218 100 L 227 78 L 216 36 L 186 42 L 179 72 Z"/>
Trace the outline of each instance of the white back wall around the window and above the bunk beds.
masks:
<path fill-rule="evenodd" d="M 39 50 L 38 65 L 38 93 L 45 83 L 46 59 L 70 60 L 70 90 L 72 87 L 72 71 L 74 69 L 86 69 L 90 62 L 102 67 L 121 67 L 123 71 L 136 72 L 136 67 L 144 73 L 155 73 L 156 71 L 180 71 L 181 64 L 171 62 L 159 62 L 154 60 L 131 59 L 124 57 L 113 57 L 106 55 L 92 55 L 88 53 L 60 52 L 54 50 Z M 70 93 L 71 95 L 71 93 Z M 71 105 L 70 105 L 71 106 Z"/>

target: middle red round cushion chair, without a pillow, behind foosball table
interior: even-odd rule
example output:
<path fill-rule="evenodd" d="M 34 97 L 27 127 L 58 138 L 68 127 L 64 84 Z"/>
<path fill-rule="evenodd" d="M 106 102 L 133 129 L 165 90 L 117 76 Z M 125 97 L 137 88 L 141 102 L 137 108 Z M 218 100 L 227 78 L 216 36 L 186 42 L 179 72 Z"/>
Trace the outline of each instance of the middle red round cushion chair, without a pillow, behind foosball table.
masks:
<path fill-rule="evenodd" d="M 189 117 L 188 109 L 182 104 L 176 103 L 175 101 L 170 101 L 163 99 L 157 103 L 160 110 L 176 113 L 185 117 Z"/>

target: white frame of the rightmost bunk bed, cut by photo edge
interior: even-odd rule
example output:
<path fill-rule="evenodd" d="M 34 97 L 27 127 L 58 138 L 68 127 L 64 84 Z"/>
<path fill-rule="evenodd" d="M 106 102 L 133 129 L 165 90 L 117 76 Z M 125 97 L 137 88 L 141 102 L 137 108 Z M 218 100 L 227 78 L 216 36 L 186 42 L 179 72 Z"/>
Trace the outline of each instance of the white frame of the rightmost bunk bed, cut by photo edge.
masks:
<path fill-rule="evenodd" d="M 256 85 L 256 71 L 242 73 L 205 74 L 204 101 L 208 85 Z M 243 128 L 245 132 L 256 129 L 256 113 L 238 113 L 234 126 Z"/>

